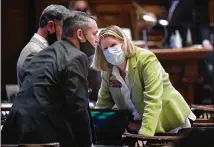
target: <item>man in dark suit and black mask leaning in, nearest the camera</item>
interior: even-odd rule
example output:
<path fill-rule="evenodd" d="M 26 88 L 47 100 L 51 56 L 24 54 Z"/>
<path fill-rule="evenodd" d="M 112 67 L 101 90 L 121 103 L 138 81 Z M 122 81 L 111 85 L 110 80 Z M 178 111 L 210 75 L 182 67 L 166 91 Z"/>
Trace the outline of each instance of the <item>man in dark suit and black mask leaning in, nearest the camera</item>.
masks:
<path fill-rule="evenodd" d="M 88 57 L 98 44 L 96 20 L 71 12 L 62 40 L 35 55 L 2 128 L 2 144 L 59 142 L 90 147 Z"/>

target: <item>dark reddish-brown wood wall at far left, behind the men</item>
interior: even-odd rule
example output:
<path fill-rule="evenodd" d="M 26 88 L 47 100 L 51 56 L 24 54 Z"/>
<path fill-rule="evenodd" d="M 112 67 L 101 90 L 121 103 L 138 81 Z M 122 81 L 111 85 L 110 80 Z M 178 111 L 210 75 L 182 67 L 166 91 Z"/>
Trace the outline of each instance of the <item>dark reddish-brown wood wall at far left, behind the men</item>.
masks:
<path fill-rule="evenodd" d="M 1 90 L 5 84 L 16 83 L 16 62 L 28 41 L 28 0 L 2 1 Z"/>

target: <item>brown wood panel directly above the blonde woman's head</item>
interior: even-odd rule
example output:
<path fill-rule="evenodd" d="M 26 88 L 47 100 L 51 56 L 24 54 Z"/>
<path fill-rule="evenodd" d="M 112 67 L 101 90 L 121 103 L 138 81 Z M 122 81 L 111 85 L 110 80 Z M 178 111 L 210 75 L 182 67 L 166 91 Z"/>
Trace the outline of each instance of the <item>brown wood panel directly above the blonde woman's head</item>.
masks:
<path fill-rule="evenodd" d="M 92 15 L 97 17 L 98 27 L 118 25 L 130 28 L 136 38 L 136 13 L 132 0 L 89 0 Z"/>

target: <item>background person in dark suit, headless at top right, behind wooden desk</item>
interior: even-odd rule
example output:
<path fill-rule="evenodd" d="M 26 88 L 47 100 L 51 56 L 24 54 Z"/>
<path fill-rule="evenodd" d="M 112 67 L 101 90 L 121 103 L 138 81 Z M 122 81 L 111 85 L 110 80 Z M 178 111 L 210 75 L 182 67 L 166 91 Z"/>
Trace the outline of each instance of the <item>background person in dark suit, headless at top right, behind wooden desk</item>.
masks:
<path fill-rule="evenodd" d="M 207 0 L 161 0 L 168 12 L 168 38 L 178 30 L 183 46 L 187 46 L 187 29 L 192 34 L 192 44 L 202 44 L 210 40 L 209 13 Z M 207 48 L 210 46 L 205 45 Z"/>

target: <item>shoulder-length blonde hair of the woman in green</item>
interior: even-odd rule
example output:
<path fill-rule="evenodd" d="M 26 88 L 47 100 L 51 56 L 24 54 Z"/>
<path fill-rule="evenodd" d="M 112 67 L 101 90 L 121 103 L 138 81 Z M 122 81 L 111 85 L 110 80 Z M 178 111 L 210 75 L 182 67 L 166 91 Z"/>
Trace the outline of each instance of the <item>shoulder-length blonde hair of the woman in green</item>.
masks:
<path fill-rule="evenodd" d="M 122 43 L 122 48 L 126 58 L 132 57 L 136 53 L 136 49 L 132 41 L 124 34 L 120 27 L 112 25 L 103 30 L 99 34 L 99 44 L 95 50 L 92 67 L 98 71 L 109 70 L 109 63 L 107 62 L 103 50 L 101 49 L 100 42 L 105 37 L 113 37 Z"/>

